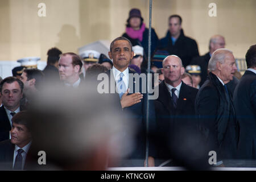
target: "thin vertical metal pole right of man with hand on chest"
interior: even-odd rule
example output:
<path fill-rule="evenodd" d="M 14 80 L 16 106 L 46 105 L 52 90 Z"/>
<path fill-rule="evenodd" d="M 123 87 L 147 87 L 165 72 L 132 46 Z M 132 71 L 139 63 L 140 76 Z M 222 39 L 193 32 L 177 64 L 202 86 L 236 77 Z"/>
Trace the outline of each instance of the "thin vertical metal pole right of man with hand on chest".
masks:
<path fill-rule="evenodd" d="M 147 73 L 150 73 L 150 57 L 151 57 L 151 15 L 152 15 L 152 0 L 150 0 L 150 14 L 148 26 L 148 53 L 147 53 Z M 148 101 L 148 83 L 147 83 L 147 115 L 146 115 L 146 167 L 148 167 L 148 126 L 149 126 L 149 101 Z"/>

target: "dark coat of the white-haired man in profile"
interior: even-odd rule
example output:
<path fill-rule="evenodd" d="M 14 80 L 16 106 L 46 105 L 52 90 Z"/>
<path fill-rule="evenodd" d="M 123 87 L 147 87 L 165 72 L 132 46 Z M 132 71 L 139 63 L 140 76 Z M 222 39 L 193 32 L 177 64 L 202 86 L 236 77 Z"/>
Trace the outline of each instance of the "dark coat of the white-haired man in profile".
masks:
<path fill-rule="evenodd" d="M 213 73 L 209 73 L 209 79 L 201 86 L 195 104 L 207 155 L 216 151 L 217 159 L 236 158 L 239 127 L 233 102 Z"/>

